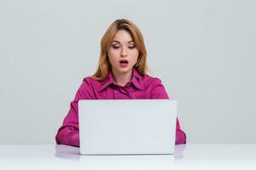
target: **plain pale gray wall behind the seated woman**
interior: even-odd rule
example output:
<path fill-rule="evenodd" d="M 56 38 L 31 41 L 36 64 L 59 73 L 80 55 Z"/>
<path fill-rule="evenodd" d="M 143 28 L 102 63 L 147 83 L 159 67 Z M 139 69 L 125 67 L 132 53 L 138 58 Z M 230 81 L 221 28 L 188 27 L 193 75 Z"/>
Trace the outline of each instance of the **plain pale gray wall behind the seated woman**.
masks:
<path fill-rule="evenodd" d="M 0 0 L 0 144 L 55 133 L 113 20 L 143 32 L 188 143 L 256 143 L 255 1 Z"/>

